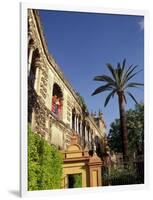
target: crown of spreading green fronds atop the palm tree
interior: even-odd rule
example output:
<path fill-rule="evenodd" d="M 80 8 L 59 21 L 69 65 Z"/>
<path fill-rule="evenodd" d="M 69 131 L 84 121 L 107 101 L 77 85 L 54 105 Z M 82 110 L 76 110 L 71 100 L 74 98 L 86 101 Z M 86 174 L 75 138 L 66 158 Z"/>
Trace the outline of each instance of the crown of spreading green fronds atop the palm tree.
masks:
<path fill-rule="evenodd" d="M 143 86 L 142 83 L 129 82 L 141 70 L 135 71 L 137 70 L 137 67 L 138 67 L 137 65 L 136 66 L 131 65 L 126 69 L 125 63 L 126 63 L 126 59 L 123 60 L 123 63 L 117 63 L 116 67 L 113 67 L 110 63 L 107 63 L 106 66 L 111 75 L 108 76 L 108 75 L 103 74 L 103 75 L 94 77 L 94 81 L 103 82 L 105 85 L 101 85 L 100 87 L 98 87 L 92 93 L 92 95 L 96 95 L 101 92 L 110 92 L 108 96 L 106 97 L 104 106 L 107 106 L 111 97 L 113 98 L 115 94 L 119 95 L 120 93 L 122 93 L 125 102 L 126 102 L 126 94 L 127 94 L 137 103 L 134 96 L 127 89 Z"/>

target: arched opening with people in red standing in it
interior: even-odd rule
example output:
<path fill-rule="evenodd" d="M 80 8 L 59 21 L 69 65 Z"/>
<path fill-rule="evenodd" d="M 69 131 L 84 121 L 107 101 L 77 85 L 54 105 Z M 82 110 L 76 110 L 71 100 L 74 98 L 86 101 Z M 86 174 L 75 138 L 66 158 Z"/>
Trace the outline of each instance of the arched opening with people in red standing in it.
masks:
<path fill-rule="evenodd" d="M 52 113 L 54 113 L 56 117 L 61 119 L 62 111 L 63 111 L 63 93 L 59 85 L 57 83 L 54 83 L 53 95 L 52 95 Z"/>

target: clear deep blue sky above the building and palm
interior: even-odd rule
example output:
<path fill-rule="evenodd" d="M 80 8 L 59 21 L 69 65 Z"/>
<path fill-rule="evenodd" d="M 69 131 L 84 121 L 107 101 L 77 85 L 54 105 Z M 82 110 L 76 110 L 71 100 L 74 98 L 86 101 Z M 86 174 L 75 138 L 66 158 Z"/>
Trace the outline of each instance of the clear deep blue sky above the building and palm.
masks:
<path fill-rule="evenodd" d="M 85 99 L 89 111 L 101 109 L 107 127 L 119 117 L 117 97 L 107 107 L 107 93 L 91 96 L 101 85 L 96 75 L 109 74 L 106 63 L 116 66 L 127 60 L 127 66 L 139 65 L 144 70 L 143 16 L 95 14 L 62 11 L 40 11 L 48 49 L 74 89 Z M 144 71 L 134 81 L 143 83 Z M 144 90 L 131 90 L 143 101 Z M 127 98 L 126 109 L 134 108 Z"/>

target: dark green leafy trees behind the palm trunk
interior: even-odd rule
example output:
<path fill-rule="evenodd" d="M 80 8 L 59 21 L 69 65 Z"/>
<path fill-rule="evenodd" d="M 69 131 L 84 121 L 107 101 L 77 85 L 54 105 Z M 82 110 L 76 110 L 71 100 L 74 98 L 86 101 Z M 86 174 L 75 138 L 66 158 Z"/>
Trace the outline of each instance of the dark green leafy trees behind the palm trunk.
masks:
<path fill-rule="evenodd" d="M 126 112 L 129 154 L 143 155 L 144 151 L 144 104 L 136 104 L 135 109 Z M 108 135 L 109 147 L 114 152 L 122 152 L 120 121 L 115 119 Z"/>

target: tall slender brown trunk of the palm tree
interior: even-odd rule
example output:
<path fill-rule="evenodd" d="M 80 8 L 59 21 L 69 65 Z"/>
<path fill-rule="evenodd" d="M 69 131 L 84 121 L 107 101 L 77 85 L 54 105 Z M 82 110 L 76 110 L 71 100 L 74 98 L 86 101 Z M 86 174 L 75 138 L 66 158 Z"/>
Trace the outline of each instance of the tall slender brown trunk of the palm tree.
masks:
<path fill-rule="evenodd" d="M 126 113 L 124 92 L 118 92 L 119 110 L 120 110 L 120 130 L 122 135 L 122 149 L 123 149 L 123 161 L 128 161 L 128 131 L 126 126 Z"/>

